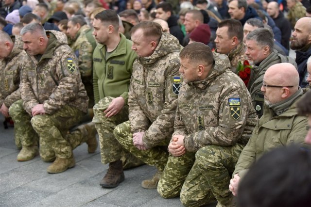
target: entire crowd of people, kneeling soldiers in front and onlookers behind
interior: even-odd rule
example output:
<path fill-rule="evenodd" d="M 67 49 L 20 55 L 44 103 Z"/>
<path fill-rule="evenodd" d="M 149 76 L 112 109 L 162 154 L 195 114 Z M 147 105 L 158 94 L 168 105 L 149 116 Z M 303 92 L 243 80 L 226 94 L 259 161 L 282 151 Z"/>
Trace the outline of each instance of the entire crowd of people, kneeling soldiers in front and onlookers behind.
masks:
<path fill-rule="evenodd" d="M 310 56 L 310 0 L 2 0 L 0 113 L 50 174 L 86 143 L 103 188 L 310 206 Z"/>

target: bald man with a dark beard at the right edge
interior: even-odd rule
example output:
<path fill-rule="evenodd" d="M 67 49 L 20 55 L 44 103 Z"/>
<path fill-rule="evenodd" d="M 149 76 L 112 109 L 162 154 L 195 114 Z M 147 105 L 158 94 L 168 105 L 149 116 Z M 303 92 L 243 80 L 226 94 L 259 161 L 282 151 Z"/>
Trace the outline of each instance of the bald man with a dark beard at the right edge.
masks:
<path fill-rule="evenodd" d="M 308 85 L 307 60 L 311 55 L 311 17 L 303 17 L 295 24 L 291 49 L 296 50 L 299 86 L 305 88 Z"/>

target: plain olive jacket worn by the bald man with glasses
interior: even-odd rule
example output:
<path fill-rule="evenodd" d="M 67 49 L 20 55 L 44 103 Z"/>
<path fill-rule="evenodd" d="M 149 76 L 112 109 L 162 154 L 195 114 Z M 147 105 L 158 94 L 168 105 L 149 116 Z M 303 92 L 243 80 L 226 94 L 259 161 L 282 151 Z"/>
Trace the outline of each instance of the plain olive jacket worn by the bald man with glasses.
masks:
<path fill-rule="evenodd" d="M 298 115 L 295 107 L 298 101 L 278 116 L 265 104 L 264 114 L 242 150 L 233 175 L 239 173 L 242 177 L 256 160 L 276 147 L 304 143 L 308 132 L 308 118 Z"/>

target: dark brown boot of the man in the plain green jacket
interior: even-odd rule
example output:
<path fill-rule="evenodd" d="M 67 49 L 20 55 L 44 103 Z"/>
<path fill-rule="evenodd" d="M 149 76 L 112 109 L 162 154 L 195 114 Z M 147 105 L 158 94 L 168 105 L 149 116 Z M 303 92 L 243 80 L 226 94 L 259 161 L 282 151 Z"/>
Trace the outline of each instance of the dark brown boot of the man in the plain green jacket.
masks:
<path fill-rule="evenodd" d="M 109 163 L 109 168 L 106 175 L 100 182 L 100 186 L 104 188 L 115 188 L 124 181 L 124 173 L 122 161 L 119 159 Z"/>

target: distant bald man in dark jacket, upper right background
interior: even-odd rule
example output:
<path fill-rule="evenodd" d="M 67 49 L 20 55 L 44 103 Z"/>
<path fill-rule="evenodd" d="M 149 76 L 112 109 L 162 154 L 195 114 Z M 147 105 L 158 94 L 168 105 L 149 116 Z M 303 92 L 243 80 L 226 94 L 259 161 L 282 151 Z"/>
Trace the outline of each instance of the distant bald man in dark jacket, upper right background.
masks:
<path fill-rule="evenodd" d="M 290 49 L 290 37 L 292 34 L 292 26 L 283 13 L 279 11 L 276 1 L 271 1 L 267 6 L 267 13 L 276 23 L 276 27 L 281 30 L 281 45 L 286 49 Z"/>

